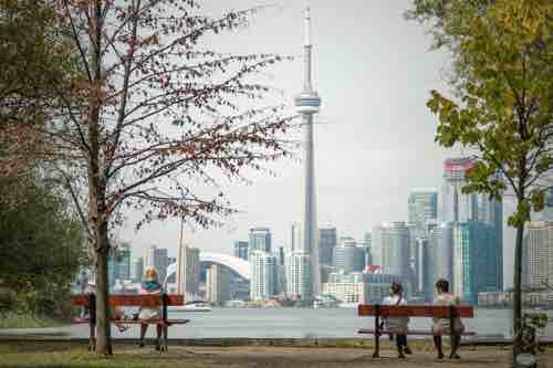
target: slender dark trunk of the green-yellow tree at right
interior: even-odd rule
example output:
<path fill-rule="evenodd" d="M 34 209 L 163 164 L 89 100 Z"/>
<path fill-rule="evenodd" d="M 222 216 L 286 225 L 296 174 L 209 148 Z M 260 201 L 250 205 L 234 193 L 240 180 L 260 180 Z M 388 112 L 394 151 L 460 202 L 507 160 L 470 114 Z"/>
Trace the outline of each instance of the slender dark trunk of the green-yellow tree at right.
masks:
<path fill-rule="evenodd" d="M 524 225 L 517 227 L 517 242 L 514 244 L 514 276 L 513 276 L 513 362 L 518 354 L 522 353 L 522 240 Z"/>

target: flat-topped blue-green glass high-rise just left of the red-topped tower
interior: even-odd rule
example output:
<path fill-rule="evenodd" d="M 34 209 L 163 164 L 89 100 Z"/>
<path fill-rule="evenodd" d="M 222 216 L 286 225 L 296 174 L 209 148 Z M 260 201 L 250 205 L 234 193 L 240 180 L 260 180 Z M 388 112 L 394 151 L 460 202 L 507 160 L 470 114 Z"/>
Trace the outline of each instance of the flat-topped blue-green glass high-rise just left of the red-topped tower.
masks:
<path fill-rule="evenodd" d="M 438 218 L 438 191 L 434 188 L 413 189 L 408 199 L 409 223 L 415 236 L 426 235 L 427 222 Z"/>

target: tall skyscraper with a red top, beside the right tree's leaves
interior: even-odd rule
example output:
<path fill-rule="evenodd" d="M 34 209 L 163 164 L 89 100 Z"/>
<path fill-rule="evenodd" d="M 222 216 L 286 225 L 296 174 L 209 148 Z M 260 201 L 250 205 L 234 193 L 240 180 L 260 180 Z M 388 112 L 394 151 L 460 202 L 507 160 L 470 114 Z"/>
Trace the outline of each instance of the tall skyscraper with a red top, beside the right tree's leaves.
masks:
<path fill-rule="evenodd" d="M 461 191 L 467 183 L 467 171 L 472 166 L 470 158 L 448 158 L 444 162 L 444 186 L 439 212 L 441 222 L 467 222 L 477 219 L 477 194 Z"/>

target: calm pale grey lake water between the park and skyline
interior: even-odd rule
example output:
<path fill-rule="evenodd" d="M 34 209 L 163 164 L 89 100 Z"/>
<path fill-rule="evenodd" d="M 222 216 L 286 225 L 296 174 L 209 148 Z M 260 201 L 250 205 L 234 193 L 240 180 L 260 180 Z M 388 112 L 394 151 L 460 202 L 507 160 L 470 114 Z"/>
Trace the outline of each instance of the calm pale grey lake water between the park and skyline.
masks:
<path fill-rule="evenodd" d="M 553 311 L 549 312 L 550 318 Z M 170 313 L 169 317 L 189 318 L 186 326 L 169 329 L 174 338 L 305 338 L 359 337 L 357 328 L 374 326 L 372 317 L 358 317 L 357 309 L 348 308 L 213 308 L 212 312 Z M 511 311 L 476 309 L 474 318 L 463 319 L 469 330 L 480 336 L 511 334 Z M 413 318 L 410 328 L 429 328 L 429 318 Z M 63 327 L 72 337 L 87 337 L 86 325 Z M 154 333 L 150 327 L 148 335 Z M 138 334 L 138 326 L 121 334 L 113 329 L 113 337 L 133 337 Z M 553 338 L 553 322 L 550 322 L 544 336 Z"/>

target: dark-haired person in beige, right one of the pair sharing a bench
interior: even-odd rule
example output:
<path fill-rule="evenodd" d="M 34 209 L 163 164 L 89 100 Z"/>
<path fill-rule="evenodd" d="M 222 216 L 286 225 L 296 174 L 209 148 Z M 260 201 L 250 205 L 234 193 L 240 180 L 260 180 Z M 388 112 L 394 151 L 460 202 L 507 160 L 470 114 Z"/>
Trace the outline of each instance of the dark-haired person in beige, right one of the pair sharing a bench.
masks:
<path fill-rule="evenodd" d="M 434 305 L 460 305 L 459 297 L 449 294 L 449 283 L 446 280 L 438 280 L 436 283 L 436 292 L 438 296 L 434 299 Z M 461 318 L 453 318 L 453 326 L 451 326 L 449 318 L 432 318 L 432 320 L 434 344 L 438 350 L 438 359 L 444 359 L 444 351 L 441 349 L 442 334 L 449 334 L 451 337 L 451 354 L 449 358 L 460 359 L 461 357 L 457 354 L 457 349 L 459 349 L 459 345 L 461 344 L 460 334 L 465 330 Z"/>

